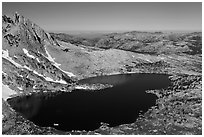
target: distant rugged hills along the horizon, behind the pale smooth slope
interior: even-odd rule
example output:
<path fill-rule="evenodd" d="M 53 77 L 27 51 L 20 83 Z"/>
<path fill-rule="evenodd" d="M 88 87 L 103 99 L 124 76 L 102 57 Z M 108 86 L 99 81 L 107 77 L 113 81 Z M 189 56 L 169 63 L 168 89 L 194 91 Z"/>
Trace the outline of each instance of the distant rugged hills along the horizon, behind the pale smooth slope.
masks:
<path fill-rule="evenodd" d="M 201 54 L 202 34 L 195 33 L 162 33 L 132 31 L 111 33 L 97 38 L 87 39 L 68 34 L 54 34 L 58 40 L 72 44 L 82 44 L 103 49 L 121 49 L 146 54 Z"/>

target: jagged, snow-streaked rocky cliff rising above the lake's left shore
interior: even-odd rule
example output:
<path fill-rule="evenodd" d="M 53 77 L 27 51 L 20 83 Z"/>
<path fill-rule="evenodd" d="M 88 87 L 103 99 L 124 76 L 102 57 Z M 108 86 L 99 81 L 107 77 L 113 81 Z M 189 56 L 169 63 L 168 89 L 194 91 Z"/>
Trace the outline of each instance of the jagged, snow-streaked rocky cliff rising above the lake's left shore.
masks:
<path fill-rule="evenodd" d="M 74 80 L 60 69 L 47 48 L 59 46 L 39 26 L 18 14 L 2 17 L 3 85 L 14 93 L 57 90 Z M 5 97 L 6 98 L 6 97 Z"/>

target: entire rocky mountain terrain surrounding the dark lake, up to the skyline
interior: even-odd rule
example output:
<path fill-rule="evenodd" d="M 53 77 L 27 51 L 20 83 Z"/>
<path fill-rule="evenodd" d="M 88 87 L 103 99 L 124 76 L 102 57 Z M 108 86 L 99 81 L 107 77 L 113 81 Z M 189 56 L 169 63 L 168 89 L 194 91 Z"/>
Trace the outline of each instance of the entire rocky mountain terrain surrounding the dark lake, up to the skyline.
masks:
<path fill-rule="evenodd" d="M 2 17 L 3 134 L 202 134 L 201 33 L 127 32 L 93 41 L 70 37 L 50 35 L 18 14 Z M 135 123 L 103 124 L 95 131 L 38 127 L 6 101 L 32 92 L 100 89 L 104 85 L 77 85 L 77 80 L 121 73 L 170 74 L 172 86 L 147 91 L 158 96 L 157 106 Z"/>

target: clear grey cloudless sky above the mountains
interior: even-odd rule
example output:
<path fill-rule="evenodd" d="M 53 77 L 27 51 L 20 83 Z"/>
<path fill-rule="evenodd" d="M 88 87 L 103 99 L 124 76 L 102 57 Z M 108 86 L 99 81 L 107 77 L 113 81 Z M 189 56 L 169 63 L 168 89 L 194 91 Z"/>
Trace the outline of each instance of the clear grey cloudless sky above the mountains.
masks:
<path fill-rule="evenodd" d="M 202 3 L 3 2 L 46 31 L 201 31 Z"/>

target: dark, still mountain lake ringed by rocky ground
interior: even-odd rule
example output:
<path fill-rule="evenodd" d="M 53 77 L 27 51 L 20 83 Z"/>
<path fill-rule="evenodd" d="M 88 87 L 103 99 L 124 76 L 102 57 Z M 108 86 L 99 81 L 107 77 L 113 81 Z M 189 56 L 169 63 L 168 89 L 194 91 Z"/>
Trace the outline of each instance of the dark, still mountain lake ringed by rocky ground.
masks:
<path fill-rule="evenodd" d="M 88 78 L 79 83 L 104 83 L 112 88 L 59 93 L 33 93 L 8 99 L 25 118 L 43 127 L 63 131 L 95 130 L 101 122 L 110 127 L 133 123 L 139 113 L 155 105 L 157 96 L 147 89 L 170 85 L 168 75 L 126 74 Z"/>

